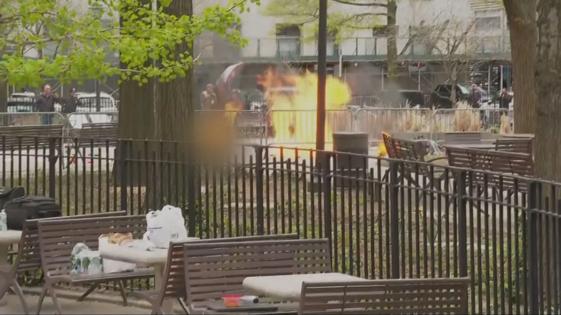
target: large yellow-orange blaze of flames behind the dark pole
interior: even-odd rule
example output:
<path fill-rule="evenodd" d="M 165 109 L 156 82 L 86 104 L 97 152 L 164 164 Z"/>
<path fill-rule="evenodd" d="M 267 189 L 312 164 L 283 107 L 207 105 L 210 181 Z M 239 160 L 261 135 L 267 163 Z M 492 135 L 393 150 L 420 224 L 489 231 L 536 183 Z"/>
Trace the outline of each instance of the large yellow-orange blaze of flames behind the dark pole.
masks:
<path fill-rule="evenodd" d="M 277 73 L 272 68 L 257 77 L 263 86 L 265 98 L 272 112 L 275 130 L 274 143 L 314 149 L 316 137 L 316 106 L 318 101 L 318 75 L 306 72 Z M 325 109 L 344 109 L 351 100 L 351 89 L 346 82 L 328 76 L 325 89 Z M 332 126 L 326 123 L 326 150 L 333 150 Z"/>

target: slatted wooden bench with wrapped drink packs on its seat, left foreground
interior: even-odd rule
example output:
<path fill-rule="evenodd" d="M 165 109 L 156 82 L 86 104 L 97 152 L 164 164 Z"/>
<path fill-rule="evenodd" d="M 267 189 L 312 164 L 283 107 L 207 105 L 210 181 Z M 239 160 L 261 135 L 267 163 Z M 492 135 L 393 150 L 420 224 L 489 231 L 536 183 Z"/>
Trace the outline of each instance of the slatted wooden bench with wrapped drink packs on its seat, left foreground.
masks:
<path fill-rule="evenodd" d="M 132 233 L 135 239 L 140 239 L 146 231 L 146 216 L 144 215 L 39 220 L 38 230 L 41 265 L 45 277 L 43 291 L 39 298 L 39 310 L 48 292 L 53 299 L 57 314 L 62 314 L 54 289 L 58 283 L 93 284 L 96 288 L 99 284 L 115 281 L 121 290 L 123 304 L 126 304 L 123 281 L 154 276 L 154 270 L 151 268 L 96 275 L 75 275 L 71 274 L 70 270 L 71 252 L 77 243 L 84 243 L 92 251 L 97 251 L 99 237 L 102 234 Z"/>

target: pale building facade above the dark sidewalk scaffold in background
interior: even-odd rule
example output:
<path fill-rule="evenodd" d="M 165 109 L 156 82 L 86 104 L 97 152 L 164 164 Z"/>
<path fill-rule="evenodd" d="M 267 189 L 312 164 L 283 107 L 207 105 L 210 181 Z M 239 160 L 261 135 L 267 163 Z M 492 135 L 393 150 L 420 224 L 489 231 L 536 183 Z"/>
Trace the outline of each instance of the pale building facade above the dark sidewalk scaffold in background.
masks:
<path fill-rule="evenodd" d="M 199 47 L 204 47 L 200 51 L 200 57 L 214 61 L 314 61 L 317 58 L 317 44 L 302 40 L 303 34 L 298 25 L 279 27 L 283 24 L 282 18 L 263 15 L 263 8 L 269 1 L 262 0 L 260 7 L 250 4 L 251 10 L 242 14 L 241 25 L 237 27 L 249 40 L 245 47 L 225 47 L 220 40 L 207 38 L 199 43 Z M 365 10 L 365 7 L 337 4 L 330 7 L 330 10 Z M 462 29 L 468 29 L 473 23 L 468 34 L 468 40 L 477 43 L 477 47 L 472 48 L 473 58 L 509 58 L 506 18 L 502 7 L 496 4 L 484 4 L 481 0 L 402 0 L 398 2 L 396 18 L 397 49 L 403 61 L 439 59 L 442 53 L 427 50 L 422 43 L 415 40 L 411 42 L 411 38 L 419 26 L 446 29 L 447 21 L 453 22 L 458 33 L 461 33 Z M 450 36 L 450 30 L 446 33 Z M 357 30 L 338 44 L 329 40 L 327 53 L 331 62 L 385 61 L 387 34 L 383 27 Z"/>

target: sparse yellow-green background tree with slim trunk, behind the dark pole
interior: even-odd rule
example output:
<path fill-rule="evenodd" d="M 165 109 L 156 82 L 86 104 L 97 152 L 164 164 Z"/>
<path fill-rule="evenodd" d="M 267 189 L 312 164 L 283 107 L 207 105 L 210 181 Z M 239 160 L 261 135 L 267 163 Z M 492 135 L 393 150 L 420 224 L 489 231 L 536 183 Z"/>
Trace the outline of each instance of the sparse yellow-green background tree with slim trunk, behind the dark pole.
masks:
<path fill-rule="evenodd" d="M 371 30 L 385 25 L 388 37 L 388 78 L 396 81 L 397 76 L 397 3 L 394 0 L 329 0 L 328 10 L 334 4 L 342 5 L 341 10 L 330 10 L 327 19 L 328 33 L 335 43 L 353 36 L 357 30 Z M 304 40 L 315 40 L 318 32 L 319 0 L 272 0 L 265 7 L 264 14 L 282 18 L 282 24 L 299 25 L 304 31 Z M 352 10 L 355 7 L 356 10 Z M 353 12 L 355 11 L 355 12 Z M 385 18 L 384 18 L 385 17 Z M 390 85 L 392 86 L 392 85 Z"/>

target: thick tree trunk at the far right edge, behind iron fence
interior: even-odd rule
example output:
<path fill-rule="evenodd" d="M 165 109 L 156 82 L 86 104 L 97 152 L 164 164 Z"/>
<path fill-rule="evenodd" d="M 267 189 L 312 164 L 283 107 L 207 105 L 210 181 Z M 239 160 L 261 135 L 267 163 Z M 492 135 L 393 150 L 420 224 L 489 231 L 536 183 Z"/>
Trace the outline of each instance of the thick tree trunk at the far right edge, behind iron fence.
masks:
<path fill-rule="evenodd" d="M 561 182 L 561 2 L 540 0 L 537 13 L 535 170 L 537 178 Z M 539 208 L 551 214 L 558 213 L 561 201 L 558 190 L 548 186 L 542 188 Z M 561 269 L 558 254 L 552 254 L 557 252 L 558 246 L 547 241 L 559 238 L 554 228 L 557 221 L 551 215 L 539 215 L 534 222 L 541 237 L 537 240 L 541 247 L 538 266 L 543 270 L 539 288 L 543 294 L 540 307 L 546 312 L 553 306 L 553 301 L 547 299 L 548 289 L 551 284 L 556 285 L 555 281 L 551 281 L 551 274 L 557 274 Z"/>

